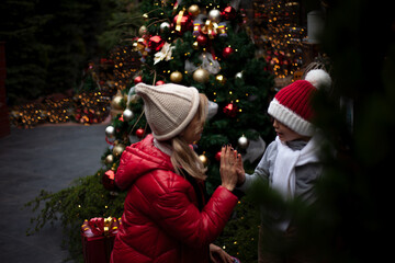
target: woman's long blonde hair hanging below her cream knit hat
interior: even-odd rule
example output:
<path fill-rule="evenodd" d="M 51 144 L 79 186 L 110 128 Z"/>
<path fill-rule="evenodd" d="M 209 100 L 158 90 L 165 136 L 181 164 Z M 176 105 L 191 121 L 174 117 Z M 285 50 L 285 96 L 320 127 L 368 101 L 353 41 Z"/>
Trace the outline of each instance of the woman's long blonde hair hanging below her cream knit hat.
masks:
<path fill-rule="evenodd" d="M 207 116 L 208 100 L 204 94 L 199 94 L 198 119 L 200 125 L 196 128 L 203 127 Z M 196 152 L 188 145 L 181 135 L 176 136 L 170 140 L 172 146 L 171 163 L 177 174 L 185 175 L 183 171 L 192 178 L 205 180 L 206 168 L 204 167 Z"/>

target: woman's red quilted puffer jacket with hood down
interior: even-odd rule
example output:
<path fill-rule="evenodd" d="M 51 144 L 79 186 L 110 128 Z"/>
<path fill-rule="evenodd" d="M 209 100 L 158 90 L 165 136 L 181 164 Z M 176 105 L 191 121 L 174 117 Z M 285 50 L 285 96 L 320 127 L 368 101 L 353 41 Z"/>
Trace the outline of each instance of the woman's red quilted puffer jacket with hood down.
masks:
<path fill-rule="evenodd" d="M 148 135 L 126 148 L 115 182 L 128 191 L 112 263 L 206 263 L 208 245 L 230 217 L 237 197 L 219 186 L 202 211 L 190 182 Z"/>

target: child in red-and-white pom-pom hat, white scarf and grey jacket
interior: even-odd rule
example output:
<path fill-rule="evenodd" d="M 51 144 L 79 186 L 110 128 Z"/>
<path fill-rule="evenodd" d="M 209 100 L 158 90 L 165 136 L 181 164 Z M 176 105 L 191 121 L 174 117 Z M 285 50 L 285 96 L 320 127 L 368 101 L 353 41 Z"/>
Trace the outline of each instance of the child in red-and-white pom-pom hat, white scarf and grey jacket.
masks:
<path fill-rule="evenodd" d="M 242 161 L 238 159 L 239 190 L 246 192 L 256 180 L 261 179 L 284 199 L 297 197 L 306 204 L 314 203 L 314 184 L 321 175 L 321 165 L 318 159 L 319 136 L 312 124 L 314 111 L 311 99 L 317 92 L 316 88 L 330 84 L 329 75 L 315 69 L 306 75 L 305 80 L 297 80 L 275 94 L 268 113 L 273 117 L 278 136 L 269 145 L 253 174 L 245 174 Z M 305 251 L 291 254 L 281 251 L 279 255 L 275 248 L 270 248 L 274 238 L 280 238 L 281 244 L 286 245 L 295 237 L 292 216 L 285 213 L 261 207 L 259 244 L 262 248 L 258 251 L 260 263 L 290 262 L 289 260 L 296 258 L 296 262 L 311 262 Z"/>

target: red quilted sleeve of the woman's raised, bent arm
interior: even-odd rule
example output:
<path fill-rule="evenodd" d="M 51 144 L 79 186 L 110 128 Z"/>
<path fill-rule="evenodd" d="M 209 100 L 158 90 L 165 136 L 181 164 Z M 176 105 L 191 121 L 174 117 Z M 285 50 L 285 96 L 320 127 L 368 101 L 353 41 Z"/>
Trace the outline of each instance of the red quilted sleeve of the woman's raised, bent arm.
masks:
<path fill-rule="evenodd" d="M 179 175 L 174 174 L 174 176 Z M 207 245 L 224 229 L 238 198 L 227 188 L 219 186 L 200 211 L 187 194 L 191 185 L 185 180 L 181 180 L 183 182 L 163 188 L 160 186 L 161 182 L 158 182 L 161 190 L 156 198 L 151 199 L 150 217 L 168 235 L 187 245 L 195 248 Z"/>

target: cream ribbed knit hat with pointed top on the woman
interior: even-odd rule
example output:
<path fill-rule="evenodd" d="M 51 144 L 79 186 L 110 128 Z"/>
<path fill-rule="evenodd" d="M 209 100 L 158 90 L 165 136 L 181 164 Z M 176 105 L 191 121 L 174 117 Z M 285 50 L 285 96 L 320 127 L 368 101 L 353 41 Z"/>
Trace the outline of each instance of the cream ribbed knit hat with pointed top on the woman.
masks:
<path fill-rule="evenodd" d="M 143 98 L 145 115 L 157 140 L 180 134 L 198 112 L 199 91 L 193 87 L 138 83 L 135 91 Z"/>

